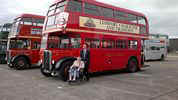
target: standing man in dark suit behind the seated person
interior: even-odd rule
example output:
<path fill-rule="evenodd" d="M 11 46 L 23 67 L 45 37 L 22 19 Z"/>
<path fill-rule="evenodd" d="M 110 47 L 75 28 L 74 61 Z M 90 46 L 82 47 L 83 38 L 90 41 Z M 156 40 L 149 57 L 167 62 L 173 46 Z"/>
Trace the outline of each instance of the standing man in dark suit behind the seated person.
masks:
<path fill-rule="evenodd" d="M 80 58 L 85 63 L 84 75 L 89 81 L 90 77 L 89 77 L 88 69 L 90 63 L 90 50 L 87 47 L 87 44 L 83 44 L 83 49 L 80 51 Z"/>

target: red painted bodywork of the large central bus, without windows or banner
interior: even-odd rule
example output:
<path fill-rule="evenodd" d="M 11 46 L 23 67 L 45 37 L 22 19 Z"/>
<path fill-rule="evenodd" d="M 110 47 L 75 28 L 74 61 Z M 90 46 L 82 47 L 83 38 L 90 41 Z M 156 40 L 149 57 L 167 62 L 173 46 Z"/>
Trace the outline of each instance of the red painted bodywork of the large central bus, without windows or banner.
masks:
<path fill-rule="evenodd" d="M 55 3 L 57 3 L 58 0 L 56 0 Z M 62 0 L 59 0 L 59 2 Z M 67 0 L 69 1 L 69 0 Z M 131 56 L 135 56 L 138 59 L 138 65 L 141 67 L 141 40 L 147 39 L 149 34 L 149 25 L 147 18 L 142 14 L 135 11 L 131 11 L 124 8 L 115 7 L 112 5 L 104 4 L 97 2 L 95 0 L 79 0 L 81 2 L 88 2 L 91 4 L 100 5 L 102 7 L 109 7 L 112 9 L 117 9 L 120 11 L 124 11 L 127 13 L 131 13 L 137 16 L 142 16 L 146 20 L 146 33 L 147 34 L 133 34 L 133 33 L 124 33 L 124 32 L 114 32 L 114 31 L 108 31 L 108 30 L 100 30 L 100 29 L 94 29 L 94 28 L 84 28 L 79 26 L 79 16 L 85 16 L 85 17 L 91 17 L 96 19 L 103 19 L 118 23 L 125 23 L 125 24 L 133 24 L 127 21 L 121 21 L 116 20 L 114 18 L 104 18 L 102 16 L 91 16 L 84 13 L 77 13 L 77 12 L 68 12 L 69 13 L 69 19 L 67 22 L 67 27 L 65 29 L 61 28 L 59 31 L 59 28 L 49 29 L 45 30 L 43 34 L 48 35 L 60 35 L 60 34 L 73 34 L 73 35 L 80 35 L 81 37 L 81 44 L 84 43 L 85 38 L 97 38 L 97 39 L 126 39 L 126 40 L 137 40 L 138 41 L 138 49 L 137 50 L 131 50 L 131 49 L 105 49 L 105 48 L 90 48 L 90 72 L 98 72 L 98 71 L 105 71 L 105 70 L 116 70 L 116 69 L 123 69 L 127 66 L 128 60 Z M 133 24 L 135 25 L 135 24 Z M 136 24 L 138 26 L 142 26 L 139 24 Z M 81 30 L 81 31 L 74 31 L 74 30 Z M 98 34 L 100 32 L 101 34 Z M 97 33 L 97 34 L 96 34 Z M 106 35 L 102 33 L 117 33 L 120 34 L 120 36 L 114 36 L 114 35 Z M 124 36 L 125 35 L 125 36 Z M 126 36 L 128 35 L 128 36 Z M 100 43 L 101 47 L 101 43 Z M 52 52 L 52 60 L 55 62 L 58 62 L 60 59 L 64 57 L 77 57 L 79 56 L 80 49 L 48 49 Z M 43 59 L 43 51 L 44 49 L 41 49 L 41 59 Z M 111 63 L 109 62 L 111 61 Z"/>

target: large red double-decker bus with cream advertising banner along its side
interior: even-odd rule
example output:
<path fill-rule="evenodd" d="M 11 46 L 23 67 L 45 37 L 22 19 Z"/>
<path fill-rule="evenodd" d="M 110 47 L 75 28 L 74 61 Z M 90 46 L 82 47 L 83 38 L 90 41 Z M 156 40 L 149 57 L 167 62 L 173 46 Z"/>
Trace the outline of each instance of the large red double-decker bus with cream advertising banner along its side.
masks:
<path fill-rule="evenodd" d="M 145 15 L 95 0 L 57 0 L 43 27 L 41 72 L 67 78 L 81 45 L 90 48 L 89 72 L 142 67 L 141 41 L 148 38 Z"/>

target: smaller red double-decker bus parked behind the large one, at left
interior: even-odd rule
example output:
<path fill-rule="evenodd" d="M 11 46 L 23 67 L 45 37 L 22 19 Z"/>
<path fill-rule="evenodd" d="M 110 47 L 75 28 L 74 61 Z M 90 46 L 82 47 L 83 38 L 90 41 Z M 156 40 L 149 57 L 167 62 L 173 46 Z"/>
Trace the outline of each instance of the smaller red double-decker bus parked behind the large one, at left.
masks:
<path fill-rule="evenodd" d="M 22 14 L 14 19 L 7 47 L 10 68 L 23 69 L 38 65 L 44 20 L 44 16 L 33 14 Z"/>

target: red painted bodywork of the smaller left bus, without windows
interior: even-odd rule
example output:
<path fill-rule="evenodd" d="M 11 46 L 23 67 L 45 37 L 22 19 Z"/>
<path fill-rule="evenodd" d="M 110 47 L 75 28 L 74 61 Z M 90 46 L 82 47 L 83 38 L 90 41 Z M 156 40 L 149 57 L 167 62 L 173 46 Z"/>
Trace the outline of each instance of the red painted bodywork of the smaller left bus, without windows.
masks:
<path fill-rule="evenodd" d="M 41 19 L 44 20 L 45 16 L 40 15 L 34 15 L 34 14 L 21 14 L 17 18 L 33 18 L 33 19 Z M 10 40 L 19 40 L 19 39 L 25 39 L 30 40 L 30 48 L 28 49 L 20 49 L 20 48 L 13 48 L 7 50 L 7 55 L 10 54 L 11 58 L 8 58 L 12 60 L 14 57 L 18 56 L 26 56 L 30 60 L 30 65 L 36 65 L 40 60 L 39 51 L 40 49 L 32 49 L 34 46 L 34 42 L 41 43 L 41 33 L 40 34 L 31 34 L 32 28 L 39 28 L 42 29 L 42 26 L 34 26 L 34 25 L 24 25 L 19 24 L 19 33 L 17 35 L 12 35 L 8 37 L 8 41 Z M 8 60 L 7 60 L 8 61 Z"/>

